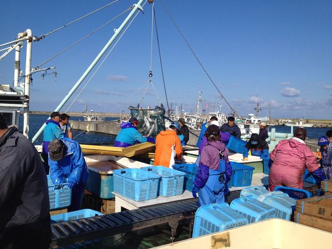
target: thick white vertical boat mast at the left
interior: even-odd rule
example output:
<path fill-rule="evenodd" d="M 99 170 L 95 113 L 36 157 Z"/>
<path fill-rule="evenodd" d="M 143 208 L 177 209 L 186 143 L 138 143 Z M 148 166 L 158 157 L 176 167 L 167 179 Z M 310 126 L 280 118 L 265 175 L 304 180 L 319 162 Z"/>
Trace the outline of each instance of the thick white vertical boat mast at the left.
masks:
<path fill-rule="evenodd" d="M 20 35 L 20 34 L 18 34 Z M 22 36 L 26 36 L 27 40 L 27 59 L 26 59 L 26 78 L 24 84 L 24 96 L 23 103 L 23 135 L 28 138 L 29 132 L 29 96 L 30 96 L 30 71 L 31 71 L 31 52 L 32 52 L 32 31 L 27 29 Z"/>

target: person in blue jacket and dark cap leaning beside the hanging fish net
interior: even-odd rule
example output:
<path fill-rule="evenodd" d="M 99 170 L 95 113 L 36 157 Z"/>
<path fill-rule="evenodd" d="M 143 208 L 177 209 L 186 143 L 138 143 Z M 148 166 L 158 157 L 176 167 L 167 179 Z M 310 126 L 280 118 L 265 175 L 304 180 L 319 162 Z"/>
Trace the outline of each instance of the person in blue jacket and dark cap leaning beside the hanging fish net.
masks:
<path fill-rule="evenodd" d="M 141 135 L 137 126 L 140 124 L 136 118 L 130 118 L 128 122 L 122 122 L 121 130 L 117 133 L 114 147 L 128 147 L 135 143 L 151 142 L 156 143 L 154 138 L 144 137 Z"/>

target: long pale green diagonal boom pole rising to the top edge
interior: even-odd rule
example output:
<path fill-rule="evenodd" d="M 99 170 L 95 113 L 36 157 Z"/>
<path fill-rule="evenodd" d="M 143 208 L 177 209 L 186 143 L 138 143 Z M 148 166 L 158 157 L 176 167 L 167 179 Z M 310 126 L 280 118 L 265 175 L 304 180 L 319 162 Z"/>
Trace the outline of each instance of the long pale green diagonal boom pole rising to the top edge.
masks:
<path fill-rule="evenodd" d="M 84 72 L 84 74 L 81 76 L 81 78 L 76 82 L 76 84 L 73 86 L 73 88 L 69 91 L 69 93 L 66 95 L 66 97 L 61 101 L 61 103 L 58 105 L 57 108 L 55 108 L 54 111 L 59 111 L 62 106 L 67 102 L 67 100 L 74 94 L 75 90 L 80 86 L 80 84 L 82 83 L 82 81 L 86 78 L 86 76 L 90 73 L 90 71 L 93 69 L 94 65 L 97 64 L 97 62 L 100 60 L 100 58 L 104 55 L 104 53 L 107 51 L 107 49 L 109 48 L 109 46 L 111 46 L 112 42 L 115 40 L 115 38 L 118 36 L 118 34 L 120 34 L 120 32 L 123 30 L 123 28 L 126 26 L 127 22 L 130 20 L 130 18 L 134 15 L 134 13 L 136 12 L 137 9 L 142 10 L 143 8 L 140 6 L 140 4 L 143 2 L 144 0 L 139 0 L 137 4 L 133 5 L 133 9 L 131 10 L 131 12 L 129 13 L 129 15 L 127 16 L 127 18 L 124 20 L 124 22 L 120 25 L 120 27 L 118 29 L 114 29 L 114 34 L 113 36 L 110 38 L 110 40 L 106 43 L 105 47 L 102 49 L 102 51 L 98 54 L 98 56 L 96 57 L 96 59 L 94 59 L 92 61 L 92 63 L 89 65 L 88 69 Z M 32 143 L 34 143 L 37 138 L 39 137 L 39 135 L 41 134 L 41 132 L 43 131 L 43 129 L 45 128 L 46 124 L 44 123 L 40 129 L 38 130 L 38 132 L 35 134 L 35 136 L 32 139 Z"/>

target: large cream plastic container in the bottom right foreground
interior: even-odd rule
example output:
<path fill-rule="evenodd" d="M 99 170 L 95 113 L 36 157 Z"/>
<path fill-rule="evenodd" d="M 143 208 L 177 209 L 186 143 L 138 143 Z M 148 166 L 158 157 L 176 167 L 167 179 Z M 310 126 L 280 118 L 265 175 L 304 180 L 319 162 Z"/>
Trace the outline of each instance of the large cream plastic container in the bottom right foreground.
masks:
<path fill-rule="evenodd" d="M 269 219 L 155 248 L 303 249 L 332 248 L 332 233 L 282 219 Z"/>

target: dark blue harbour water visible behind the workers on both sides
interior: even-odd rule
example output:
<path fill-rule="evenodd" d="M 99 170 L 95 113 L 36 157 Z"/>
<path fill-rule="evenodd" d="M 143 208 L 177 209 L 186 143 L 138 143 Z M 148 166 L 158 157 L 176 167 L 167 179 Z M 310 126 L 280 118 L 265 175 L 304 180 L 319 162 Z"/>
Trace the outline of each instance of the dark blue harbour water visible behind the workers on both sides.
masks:
<path fill-rule="evenodd" d="M 29 139 L 31 140 L 43 123 L 48 119 L 48 115 L 30 115 L 29 120 Z M 106 121 L 116 120 L 117 118 L 106 118 Z M 70 117 L 70 120 L 84 120 L 83 117 Z M 22 127 L 23 116 L 20 117 L 20 127 Z M 275 125 L 273 128 L 276 132 L 290 133 L 291 127 Z M 318 139 L 321 135 L 325 135 L 326 131 L 331 128 L 318 128 L 307 127 L 307 137 L 309 139 Z M 73 130 L 74 138 L 77 142 L 82 144 L 87 143 L 114 143 L 115 135 L 103 134 L 98 132 L 82 132 L 81 130 Z M 34 143 L 36 145 L 41 144 L 43 139 L 43 133 L 38 137 L 38 140 Z"/>

